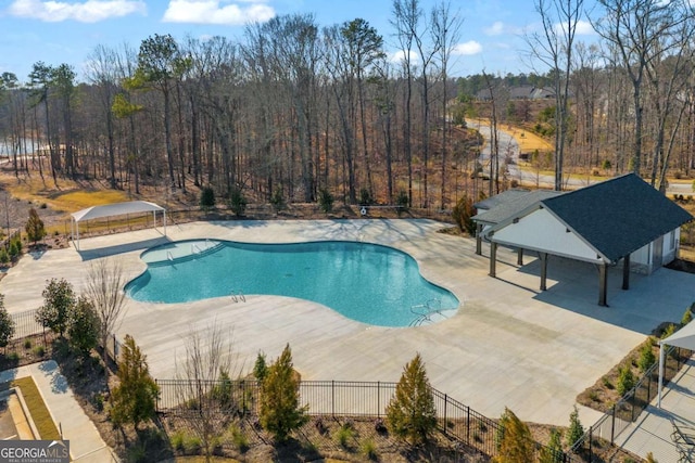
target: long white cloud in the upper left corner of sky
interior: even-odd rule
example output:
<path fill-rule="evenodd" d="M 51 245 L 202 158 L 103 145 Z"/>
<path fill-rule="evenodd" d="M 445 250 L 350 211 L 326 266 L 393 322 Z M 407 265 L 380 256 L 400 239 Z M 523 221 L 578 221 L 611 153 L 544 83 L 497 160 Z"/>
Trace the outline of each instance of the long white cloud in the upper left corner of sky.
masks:
<path fill-rule="evenodd" d="M 147 7 L 140 0 L 87 0 L 81 2 L 14 0 L 8 12 L 12 16 L 40 20 L 47 23 L 67 20 L 97 23 L 132 13 L 146 14 Z"/>

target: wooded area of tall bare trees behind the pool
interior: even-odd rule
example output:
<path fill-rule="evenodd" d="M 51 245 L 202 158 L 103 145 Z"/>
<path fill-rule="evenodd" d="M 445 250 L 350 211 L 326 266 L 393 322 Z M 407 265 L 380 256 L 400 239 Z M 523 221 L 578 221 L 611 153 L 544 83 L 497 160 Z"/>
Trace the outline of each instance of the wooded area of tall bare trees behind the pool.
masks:
<path fill-rule="evenodd" d="M 667 173 L 690 176 L 690 3 L 598 0 L 592 18 L 583 0 L 534 5 L 543 29 L 528 35 L 528 57 L 551 70 L 530 75 L 452 78 L 462 24 L 475 18 L 418 0 L 394 0 L 383 31 L 403 51 L 399 63 L 364 20 L 323 27 L 312 14 L 249 25 L 240 40 L 96 46 L 84 81 L 65 63 L 34 63 L 26 81 L 2 74 L 0 141 L 17 177 L 103 179 L 134 195 L 212 187 L 220 197 L 311 203 L 328 191 L 346 204 L 407 195 L 450 209 L 472 188 L 480 151 L 465 117 L 494 114 L 495 127 L 555 138 L 546 168 L 556 189 L 577 170 L 636 171 L 656 188 Z M 576 40 L 586 18 L 592 43 Z M 525 83 L 552 97 L 539 105 L 515 95 Z"/>

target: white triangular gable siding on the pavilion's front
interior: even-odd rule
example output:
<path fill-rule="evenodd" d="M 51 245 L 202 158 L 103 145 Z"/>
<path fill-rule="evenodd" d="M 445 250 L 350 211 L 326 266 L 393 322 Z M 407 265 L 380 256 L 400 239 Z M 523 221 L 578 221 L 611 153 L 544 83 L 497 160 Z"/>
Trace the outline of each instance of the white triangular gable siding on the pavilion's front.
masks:
<path fill-rule="evenodd" d="M 492 236 L 500 244 L 571 257 L 590 262 L 599 261 L 596 252 L 580 240 L 546 209 L 538 209 L 517 223 L 509 223 Z"/>

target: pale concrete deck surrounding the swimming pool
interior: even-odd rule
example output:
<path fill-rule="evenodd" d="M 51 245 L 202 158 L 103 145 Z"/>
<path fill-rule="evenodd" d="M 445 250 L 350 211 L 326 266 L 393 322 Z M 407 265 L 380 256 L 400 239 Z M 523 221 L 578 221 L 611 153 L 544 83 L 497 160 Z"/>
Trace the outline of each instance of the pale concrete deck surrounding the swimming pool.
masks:
<path fill-rule="evenodd" d="M 488 276 L 488 248 L 442 233 L 432 220 L 315 220 L 195 222 L 81 240 L 81 250 L 49 250 L 26 256 L 0 281 L 10 312 L 35 309 L 51 278 L 65 278 L 77 292 L 89 262 L 118 259 L 128 279 L 144 270 L 143 249 L 167 241 L 224 239 L 253 243 L 353 240 L 390 245 L 410 254 L 425 278 L 451 290 L 458 312 L 419 327 L 369 326 L 305 300 L 248 295 L 190 304 L 157 305 L 127 300 L 119 337 L 130 334 L 148 355 L 154 377 L 172 378 L 184 360 L 192 329 L 218 323 L 229 330 L 244 371 L 260 350 L 277 358 L 287 343 L 304 380 L 399 380 L 416 352 L 430 383 L 490 417 L 505 407 L 520 419 L 568 425 L 579 393 L 596 382 L 664 321 L 680 321 L 695 299 L 695 274 L 659 269 L 631 275 L 620 290 L 621 270 L 610 269 L 609 307 L 599 307 L 593 266 L 551 257 L 548 290 L 540 292 L 540 268 L 527 256 L 498 253 L 497 278 Z M 239 262 L 243 265 L 243 262 Z M 219 276 L 220 284 L 224 276 Z M 317 282 L 316 284 L 321 284 Z M 580 408 L 585 427 L 601 414 Z"/>

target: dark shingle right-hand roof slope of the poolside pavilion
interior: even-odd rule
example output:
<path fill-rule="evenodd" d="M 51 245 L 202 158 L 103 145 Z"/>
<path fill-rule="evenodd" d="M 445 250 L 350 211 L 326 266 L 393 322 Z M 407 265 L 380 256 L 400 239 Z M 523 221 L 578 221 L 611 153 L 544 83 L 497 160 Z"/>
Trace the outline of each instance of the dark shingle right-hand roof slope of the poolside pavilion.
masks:
<path fill-rule="evenodd" d="M 634 173 L 545 198 L 542 204 L 611 261 L 693 219 Z"/>

